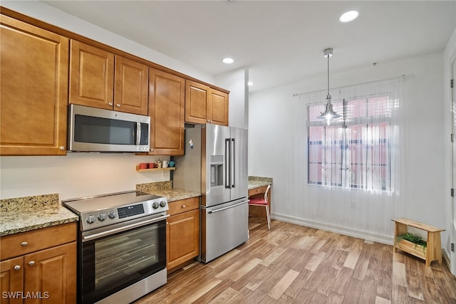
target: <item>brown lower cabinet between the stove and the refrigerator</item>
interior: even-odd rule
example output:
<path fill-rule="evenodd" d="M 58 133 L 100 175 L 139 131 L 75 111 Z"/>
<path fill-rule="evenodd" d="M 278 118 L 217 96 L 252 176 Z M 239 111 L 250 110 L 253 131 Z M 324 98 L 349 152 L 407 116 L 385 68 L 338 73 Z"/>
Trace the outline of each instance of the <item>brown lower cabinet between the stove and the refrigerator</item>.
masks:
<path fill-rule="evenodd" d="M 168 273 L 199 255 L 199 197 L 169 202 L 166 226 Z"/>

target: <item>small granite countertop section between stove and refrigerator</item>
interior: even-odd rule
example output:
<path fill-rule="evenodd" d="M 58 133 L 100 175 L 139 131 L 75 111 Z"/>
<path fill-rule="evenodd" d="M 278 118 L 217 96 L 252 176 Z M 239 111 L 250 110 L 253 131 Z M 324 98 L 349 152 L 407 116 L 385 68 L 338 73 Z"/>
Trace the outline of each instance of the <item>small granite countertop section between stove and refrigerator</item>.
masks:
<path fill-rule="evenodd" d="M 137 184 L 136 190 L 150 194 L 165 196 L 167 201 L 178 201 L 180 199 L 190 199 L 201 196 L 200 192 L 177 189 L 172 187 L 172 182 L 153 182 L 148 184 Z"/>

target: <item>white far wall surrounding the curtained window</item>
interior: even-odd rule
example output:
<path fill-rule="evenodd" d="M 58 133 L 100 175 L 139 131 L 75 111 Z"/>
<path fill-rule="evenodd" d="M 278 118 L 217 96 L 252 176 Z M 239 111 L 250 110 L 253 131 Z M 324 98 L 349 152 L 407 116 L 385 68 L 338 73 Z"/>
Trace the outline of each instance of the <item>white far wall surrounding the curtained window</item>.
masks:
<path fill-rule="evenodd" d="M 302 83 L 252 93 L 249 101 L 249 175 L 273 178 L 273 218 L 393 242 L 395 217 L 409 217 L 447 229 L 445 221 L 442 53 L 375 68 L 331 71 L 331 87 L 355 85 L 400 75 L 401 106 L 408 114 L 407 157 L 399 196 L 377 198 L 357 191 L 324 193 L 307 184 L 304 101 L 295 93 L 326 88 L 326 75 Z M 317 186 L 318 187 L 318 186 Z M 311 192 L 321 192 L 315 200 Z M 327 191 L 326 191 L 327 192 Z M 356 208 L 351 207 L 352 201 Z M 442 238 L 447 240 L 445 231 Z"/>

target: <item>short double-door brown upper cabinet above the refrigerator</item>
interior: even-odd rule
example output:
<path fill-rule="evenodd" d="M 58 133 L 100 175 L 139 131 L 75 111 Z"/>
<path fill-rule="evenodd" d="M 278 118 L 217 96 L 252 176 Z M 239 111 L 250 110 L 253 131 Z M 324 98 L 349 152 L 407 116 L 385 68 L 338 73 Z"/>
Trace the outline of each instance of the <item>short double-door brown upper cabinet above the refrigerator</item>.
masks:
<path fill-rule="evenodd" d="M 185 122 L 228 125 L 228 94 L 202 83 L 185 83 Z"/>

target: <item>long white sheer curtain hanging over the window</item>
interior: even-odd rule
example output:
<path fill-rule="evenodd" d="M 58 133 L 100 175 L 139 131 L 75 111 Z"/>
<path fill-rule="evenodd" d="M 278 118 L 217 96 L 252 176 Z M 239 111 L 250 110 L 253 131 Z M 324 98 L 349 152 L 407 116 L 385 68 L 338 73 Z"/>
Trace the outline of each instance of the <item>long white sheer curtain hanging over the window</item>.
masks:
<path fill-rule="evenodd" d="M 391 231 L 390 219 L 404 208 L 399 194 L 407 181 L 403 81 L 398 77 L 331 89 L 333 109 L 343 118 L 330 125 L 316 118 L 326 91 L 299 95 L 307 117 L 309 219 Z"/>

